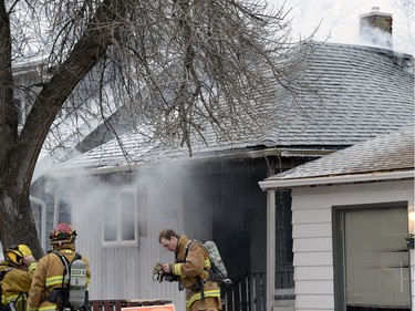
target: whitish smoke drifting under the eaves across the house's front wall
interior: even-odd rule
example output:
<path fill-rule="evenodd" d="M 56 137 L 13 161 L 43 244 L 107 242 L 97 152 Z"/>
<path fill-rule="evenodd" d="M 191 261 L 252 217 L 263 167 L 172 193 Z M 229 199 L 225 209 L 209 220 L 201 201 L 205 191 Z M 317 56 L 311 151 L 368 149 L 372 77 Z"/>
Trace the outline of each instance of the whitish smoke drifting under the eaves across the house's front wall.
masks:
<path fill-rule="evenodd" d="M 138 228 L 137 236 L 141 238 L 147 237 L 148 228 L 152 228 L 152 232 L 166 228 L 178 231 L 184 229 L 180 220 L 184 216 L 184 189 L 180 180 L 189 179 L 193 174 L 191 164 L 173 160 L 157 166 L 147 164 L 135 167 L 134 174 L 122 170 L 96 176 L 76 169 L 76 174 L 70 172 L 68 177 L 63 177 L 64 174 L 62 176 L 62 170 L 51 172 L 46 189 L 49 195 L 55 197 L 59 206 L 59 210 L 55 210 L 59 219 L 55 216 L 55 220 L 74 224 L 84 219 L 103 221 L 107 234 L 104 235 L 103 242 L 106 238 L 110 242 L 113 238 L 120 238 L 120 234 L 132 237 L 135 227 Z M 191 200 L 198 193 L 197 185 L 187 185 L 186 193 L 186 200 Z M 70 208 L 73 219 L 64 219 L 70 214 Z M 117 231 L 120 224 L 122 232 Z M 96 232 L 96 236 L 101 237 L 102 232 Z M 156 238 L 152 239 L 157 241 Z M 101 243 L 102 240 L 96 242 Z"/>

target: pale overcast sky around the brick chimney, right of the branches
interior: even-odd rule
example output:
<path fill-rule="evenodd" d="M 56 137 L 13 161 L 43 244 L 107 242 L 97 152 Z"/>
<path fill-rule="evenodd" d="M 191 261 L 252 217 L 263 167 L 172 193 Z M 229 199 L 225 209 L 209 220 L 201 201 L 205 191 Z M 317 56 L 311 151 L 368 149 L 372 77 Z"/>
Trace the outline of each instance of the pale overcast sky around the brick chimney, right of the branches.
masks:
<path fill-rule="evenodd" d="M 414 1 L 414 0 L 412 0 Z M 283 0 L 268 0 L 279 8 Z M 392 13 L 393 46 L 397 52 L 414 54 L 414 13 L 407 17 L 395 0 L 287 0 L 286 11 L 292 8 L 293 40 L 308 37 L 321 23 L 315 40 L 362 44 L 359 38 L 359 15 L 380 7 Z M 411 12 L 409 12 L 411 13 Z M 408 23 L 409 22 L 409 23 Z"/>

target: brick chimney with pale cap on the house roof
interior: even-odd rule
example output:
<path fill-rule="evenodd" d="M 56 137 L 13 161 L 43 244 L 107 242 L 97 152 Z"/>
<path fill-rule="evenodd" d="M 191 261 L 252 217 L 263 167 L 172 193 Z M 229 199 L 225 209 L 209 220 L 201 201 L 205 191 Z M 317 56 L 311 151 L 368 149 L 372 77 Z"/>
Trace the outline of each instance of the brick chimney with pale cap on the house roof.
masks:
<path fill-rule="evenodd" d="M 380 7 L 360 15 L 360 35 L 363 43 L 392 50 L 392 14 L 383 13 Z"/>

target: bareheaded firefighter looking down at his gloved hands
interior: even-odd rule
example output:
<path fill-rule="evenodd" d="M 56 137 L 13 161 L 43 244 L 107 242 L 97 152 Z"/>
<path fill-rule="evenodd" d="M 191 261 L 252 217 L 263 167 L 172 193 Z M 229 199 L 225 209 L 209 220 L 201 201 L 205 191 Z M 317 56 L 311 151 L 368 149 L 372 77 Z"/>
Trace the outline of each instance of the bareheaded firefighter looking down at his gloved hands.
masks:
<path fill-rule="evenodd" d="M 208 279 L 210 261 L 207 250 L 198 242 L 190 243 L 186 235 L 179 236 L 172 229 L 163 230 L 158 242 L 167 251 L 175 252 L 174 263 L 158 267 L 163 269 L 164 277 L 177 278 L 179 290 L 186 289 L 186 311 L 221 310 L 220 289 Z"/>

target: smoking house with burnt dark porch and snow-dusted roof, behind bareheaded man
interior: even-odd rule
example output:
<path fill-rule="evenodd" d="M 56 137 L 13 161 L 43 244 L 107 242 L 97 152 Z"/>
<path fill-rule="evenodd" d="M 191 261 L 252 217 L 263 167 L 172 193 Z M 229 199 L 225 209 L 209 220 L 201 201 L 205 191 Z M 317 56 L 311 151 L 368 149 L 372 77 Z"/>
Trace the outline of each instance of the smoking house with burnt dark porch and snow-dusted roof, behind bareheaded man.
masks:
<path fill-rule="evenodd" d="M 293 308 L 291 193 L 276 191 L 270 218 L 258 183 L 414 120 L 412 56 L 334 43 L 303 49 L 314 52 L 290 83 L 309 89 L 295 97 L 274 90 L 262 126 L 238 142 L 207 133 L 208 145 L 196 142 L 190 157 L 127 133 L 39 175 L 31 195 L 44 212 L 35 221 L 42 232 L 73 222 L 91 261 L 91 299 L 172 299 L 184 310 L 177 286 L 151 276 L 156 261 L 173 261 L 158 234 L 174 228 L 219 246 L 234 281 L 227 310 L 266 310 L 266 298 L 274 310 Z"/>

